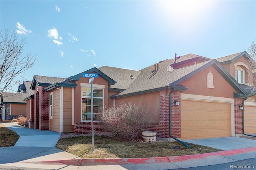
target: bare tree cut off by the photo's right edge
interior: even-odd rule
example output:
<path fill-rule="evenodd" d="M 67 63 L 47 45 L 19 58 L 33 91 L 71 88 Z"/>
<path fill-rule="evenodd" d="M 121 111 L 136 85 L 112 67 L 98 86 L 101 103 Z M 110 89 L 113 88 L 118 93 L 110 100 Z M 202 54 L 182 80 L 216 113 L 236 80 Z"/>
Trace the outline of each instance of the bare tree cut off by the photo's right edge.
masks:
<path fill-rule="evenodd" d="M 256 39 L 252 41 L 248 52 L 251 58 L 248 60 L 250 66 L 252 67 L 252 83 L 249 83 L 250 92 L 253 95 L 254 101 L 256 102 Z"/>

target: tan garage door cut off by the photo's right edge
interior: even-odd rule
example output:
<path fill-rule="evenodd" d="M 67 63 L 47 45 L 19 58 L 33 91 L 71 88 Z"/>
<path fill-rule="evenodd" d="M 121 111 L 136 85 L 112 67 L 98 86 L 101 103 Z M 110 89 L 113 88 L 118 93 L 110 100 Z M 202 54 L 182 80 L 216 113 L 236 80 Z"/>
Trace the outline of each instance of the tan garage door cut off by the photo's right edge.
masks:
<path fill-rule="evenodd" d="M 256 107 L 244 106 L 244 133 L 256 134 Z"/>

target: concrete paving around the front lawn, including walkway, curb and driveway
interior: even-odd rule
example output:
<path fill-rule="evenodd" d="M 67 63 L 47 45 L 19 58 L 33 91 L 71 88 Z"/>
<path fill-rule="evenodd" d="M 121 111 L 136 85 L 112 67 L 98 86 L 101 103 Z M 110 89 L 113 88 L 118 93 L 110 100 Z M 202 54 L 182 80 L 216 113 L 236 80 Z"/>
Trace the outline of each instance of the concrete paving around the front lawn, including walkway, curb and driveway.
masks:
<path fill-rule="evenodd" d="M 213 138 L 211 141 L 207 141 L 210 139 L 200 140 L 201 145 L 208 144 L 210 142 L 212 146 L 216 148 L 224 146 L 225 143 L 227 146 L 230 145 L 230 148 L 226 148 L 224 149 L 225 151 L 220 152 L 160 158 L 81 159 L 78 156 L 55 148 L 58 138 L 60 137 L 60 134 L 56 132 L 52 132 L 50 130 L 41 131 L 28 129 L 15 125 L 14 123 L 6 123 L 3 125 L 14 130 L 18 135 L 20 135 L 20 141 L 18 140 L 13 147 L 0 148 L 1 166 L 66 170 L 151 170 L 207 166 L 256 158 L 256 140 L 230 137 Z M 28 138 L 30 141 L 28 141 Z M 241 147 L 237 149 L 238 145 Z"/>

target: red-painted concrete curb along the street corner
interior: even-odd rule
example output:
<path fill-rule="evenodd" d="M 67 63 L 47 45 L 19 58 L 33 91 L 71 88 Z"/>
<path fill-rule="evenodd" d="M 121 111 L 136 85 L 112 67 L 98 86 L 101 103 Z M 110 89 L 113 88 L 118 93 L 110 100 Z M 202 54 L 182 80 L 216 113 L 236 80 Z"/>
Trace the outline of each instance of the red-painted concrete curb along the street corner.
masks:
<path fill-rule="evenodd" d="M 167 156 L 156 158 L 115 158 L 115 159 L 71 159 L 71 160 L 49 160 L 38 162 L 24 162 L 34 164 L 65 164 L 72 166 L 95 166 L 95 165 L 122 165 L 122 164 L 159 164 L 182 162 L 186 160 L 202 160 L 212 157 L 232 156 L 236 154 L 245 154 L 256 152 L 256 147 L 242 148 L 234 150 L 224 150 L 218 152 L 210 152 L 205 154 L 183 155 L 183 156 Z"/>

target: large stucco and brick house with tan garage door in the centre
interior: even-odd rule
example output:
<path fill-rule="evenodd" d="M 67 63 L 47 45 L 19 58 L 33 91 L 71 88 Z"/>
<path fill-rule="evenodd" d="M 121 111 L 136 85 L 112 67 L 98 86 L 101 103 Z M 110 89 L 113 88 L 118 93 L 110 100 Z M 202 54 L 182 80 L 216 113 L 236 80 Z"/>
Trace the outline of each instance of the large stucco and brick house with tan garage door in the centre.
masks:
<path fill-rule="evenodd" d="M 151 106 L 148 122 L 157 137 L 172 140 L 256 133 L 256 102 L 246 89 L 252 69 L 246 51 L 219 59 L 188 54 L 139 71 L 103 66 L 68 78 L 34 75 L 26 97 L 31 128 L 55 132 L 105 132 L 100 115 L 131 101 Z M 83 73 L 98 73 L 91 84 Z M 243 120 L 244 119 L 244 120 Z M 244 129 L 243 129 L 244 127 Z"/>

